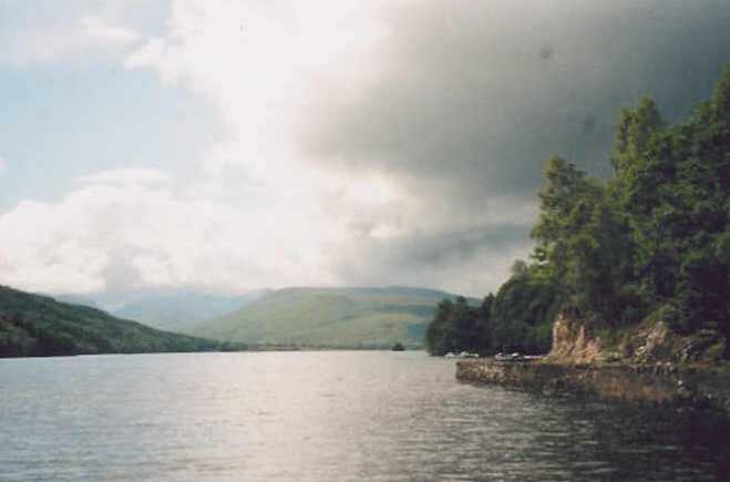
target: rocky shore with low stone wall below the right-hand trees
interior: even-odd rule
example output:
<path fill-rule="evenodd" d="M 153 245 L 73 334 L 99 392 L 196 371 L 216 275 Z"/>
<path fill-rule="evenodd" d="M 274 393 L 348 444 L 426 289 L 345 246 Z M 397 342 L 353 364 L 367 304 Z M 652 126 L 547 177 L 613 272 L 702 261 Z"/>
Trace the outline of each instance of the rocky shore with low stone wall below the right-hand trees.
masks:
<path fill-rule="evenodd" d="M 461 360 L 456 378 L 548 394 L 710 409 L 730 416 L 730 368 L 718 360 L 724 340 L 717 334 L 680 337 L 657 321 L 609 342 L 562 314 L 553 349 L 539 361 Z"/>

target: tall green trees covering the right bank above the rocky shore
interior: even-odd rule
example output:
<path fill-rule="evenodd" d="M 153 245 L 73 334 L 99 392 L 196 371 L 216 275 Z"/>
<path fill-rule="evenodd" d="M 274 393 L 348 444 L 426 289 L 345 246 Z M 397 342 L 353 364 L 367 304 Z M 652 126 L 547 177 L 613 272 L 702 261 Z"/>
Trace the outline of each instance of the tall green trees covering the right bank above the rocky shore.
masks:
<path fill-rule="evenodd" d="M 529 260 L 480 309 L 441 304 L 432 352 L 546 352 L 558 310 L 604 339 L 661 321 L 679 336 L 728 340 L 730 65 L 682 122 L 669 124 L 649 99 L 621 112 L 606 162 L 614 174 L 598 180 L 547 161 Z"/>

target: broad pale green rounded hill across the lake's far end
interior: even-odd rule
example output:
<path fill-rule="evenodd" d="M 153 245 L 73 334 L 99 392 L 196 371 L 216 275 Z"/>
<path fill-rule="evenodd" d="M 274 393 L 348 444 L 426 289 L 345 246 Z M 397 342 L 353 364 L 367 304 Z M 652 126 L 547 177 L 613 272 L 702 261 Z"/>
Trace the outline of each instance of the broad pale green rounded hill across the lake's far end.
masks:
<path fill-rule="evenodd" d="M 423 288 L 286 288 L 244 308 L 202 321 L 188 332 L 249 343 L 383 347 L 422 346 L 425 324 L 444 291 Z M 479 300 L 472 300 L 479 302 Z"/>

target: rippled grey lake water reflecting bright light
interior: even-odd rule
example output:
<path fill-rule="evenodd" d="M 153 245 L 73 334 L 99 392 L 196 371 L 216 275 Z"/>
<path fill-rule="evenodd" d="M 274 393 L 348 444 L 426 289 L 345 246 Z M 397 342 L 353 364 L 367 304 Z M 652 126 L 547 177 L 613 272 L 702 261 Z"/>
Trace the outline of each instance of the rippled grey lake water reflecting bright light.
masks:
<path fill-rule="evenodd" d="M 714 480 L 728 427 L 472 387 L 421 352 L 0 360 L 0 480 Z"/>

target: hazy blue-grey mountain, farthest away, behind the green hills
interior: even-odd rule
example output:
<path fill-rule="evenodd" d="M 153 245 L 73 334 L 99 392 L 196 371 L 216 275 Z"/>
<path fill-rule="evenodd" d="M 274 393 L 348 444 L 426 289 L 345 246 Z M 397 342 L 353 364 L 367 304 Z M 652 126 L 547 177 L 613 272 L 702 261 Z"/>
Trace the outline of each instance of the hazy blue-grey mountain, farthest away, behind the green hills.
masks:
<path fill-rule="evenodd" d="M 235 297 L 184 291 L 175 295 L 136 299 L 113 310 L 112 314 L 162 330 L 184 331 L 205 319 L 218 318 L 234 312 L 268 291 L 251 291 Z"/>

